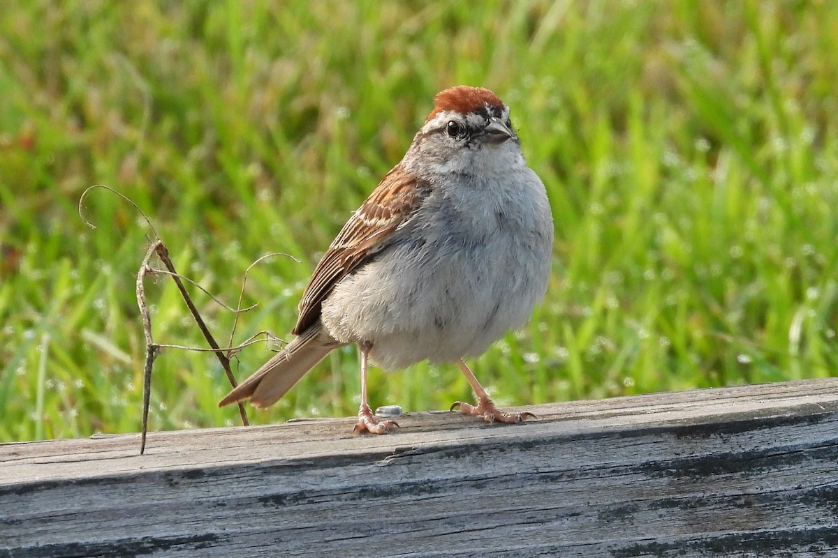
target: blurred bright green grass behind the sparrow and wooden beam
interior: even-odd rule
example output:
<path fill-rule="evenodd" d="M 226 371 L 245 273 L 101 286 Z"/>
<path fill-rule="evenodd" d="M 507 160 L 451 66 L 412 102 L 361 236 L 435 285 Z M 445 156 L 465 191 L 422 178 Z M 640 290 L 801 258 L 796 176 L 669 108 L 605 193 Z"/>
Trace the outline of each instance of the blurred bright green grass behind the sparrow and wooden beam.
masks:
<path fill-rule="evenodd" d="M 132 432 L 153 220 L 178 270 L 283 337 L 318 255 L 453 84 L 512 107 L 556 220 L 530 326 L 474 362 L 499 402 L 838 372 L 838 3 L 23 2 L 0 10 L 0 441 Z M 198 289 L 220 342 L 233 323 Z M 169 279 L 156 340 L 205 346 Z M 244 377 L 269 356 L 240 355 Z M 471 397 L 455 366 L 372 404 Z M 353 348 L 253 422 L 350 415 Z M 166 350 L 151 427 L 237 422 Z"/>

